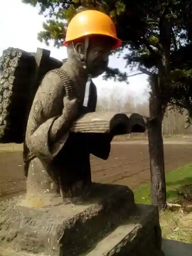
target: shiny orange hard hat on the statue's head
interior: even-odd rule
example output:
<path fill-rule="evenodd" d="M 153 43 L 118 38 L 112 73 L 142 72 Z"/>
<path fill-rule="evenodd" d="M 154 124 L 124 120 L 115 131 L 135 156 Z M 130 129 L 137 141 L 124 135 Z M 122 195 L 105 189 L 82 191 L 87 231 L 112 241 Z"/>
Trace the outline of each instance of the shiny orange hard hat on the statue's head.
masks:
<path fill-rule="evenodd" d="M 76 14 L 69 23 L 64 46 L 69 41 L 89 35 L 104 35 L 114 39 L 112 50 L 120 47 L 122 41 L 117 38 L 116 27 L 113 20 L 103 12 L 86 10 Z"/>

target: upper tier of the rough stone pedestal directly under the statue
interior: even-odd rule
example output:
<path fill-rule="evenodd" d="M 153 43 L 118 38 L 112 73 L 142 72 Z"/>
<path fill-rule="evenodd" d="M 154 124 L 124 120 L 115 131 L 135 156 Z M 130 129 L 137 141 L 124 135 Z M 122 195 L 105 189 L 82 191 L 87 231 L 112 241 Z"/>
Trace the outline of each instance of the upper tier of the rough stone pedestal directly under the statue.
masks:
<path fill-rule="evenodd" d="M 106 184 L 93 184 L 89 195 L 75 202 L 37 209 L 21 206 L 21 201 L 0 203 L 0 247 L 22 255 L 79 255 L 114 230 L 135 206 L 128 187 Z"/>

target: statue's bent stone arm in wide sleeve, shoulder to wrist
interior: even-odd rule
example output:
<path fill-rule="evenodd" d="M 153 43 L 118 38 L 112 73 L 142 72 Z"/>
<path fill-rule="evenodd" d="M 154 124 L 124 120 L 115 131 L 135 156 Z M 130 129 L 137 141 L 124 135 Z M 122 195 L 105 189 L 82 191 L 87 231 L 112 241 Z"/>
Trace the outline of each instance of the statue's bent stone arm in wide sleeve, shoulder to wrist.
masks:
<path fill-rule="evenodd" d="M 74 116 L 63 104 L 65 97 L 57 74 L 45 76 L 36 93 L 26 132 L 26 144 L 39 158 L 53 159 L 68 139 Z"/>

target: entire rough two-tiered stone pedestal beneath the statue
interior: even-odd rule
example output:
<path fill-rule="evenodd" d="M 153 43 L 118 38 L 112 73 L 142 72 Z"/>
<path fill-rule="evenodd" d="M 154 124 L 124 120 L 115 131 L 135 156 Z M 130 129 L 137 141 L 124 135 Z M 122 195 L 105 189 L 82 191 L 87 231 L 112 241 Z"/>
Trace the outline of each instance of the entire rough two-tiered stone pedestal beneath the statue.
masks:
<path fill-rule="evenodd" d="M 93 184 L 89 195 L 45 208 L 0 204 L 1 256 L 160 256 L 158 210 L 135 205 L 133 192 Z"/>

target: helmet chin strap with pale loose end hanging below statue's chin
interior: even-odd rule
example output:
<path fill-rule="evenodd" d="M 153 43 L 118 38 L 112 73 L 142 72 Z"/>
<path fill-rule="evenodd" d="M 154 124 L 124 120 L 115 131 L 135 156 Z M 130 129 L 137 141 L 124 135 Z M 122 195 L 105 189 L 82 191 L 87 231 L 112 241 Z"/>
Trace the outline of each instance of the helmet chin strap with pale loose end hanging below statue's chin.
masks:
<path fill-rule="evenodd" d="M 73 42 L 72 42 L 72 44 L 73 44 Z M 80 58 L 78 56 L 79 54 L 78 54 L 78 52 L 77 52 L 77 50 L 76 50 L 76 48 L 73 44 L 73 49 L 77 54 L 77 59 L 82 63 L 82 65 L 83 65 L 82 68 L 84 70 L 87 70 L 88 48 L 89 48 L 89 37 L 86 36 L 84 38 L 84 60 L 82 61 L 82 60 L 80 60 Z M 88 106 L 88 101 L 89 101 L 90 85 L 91 85 L 91 74 L 87 73 L 87 76 L 88 76 L 88 80 L 86 82 L 86 91 L 84 93 L 84 100 L 83 100 L 83 106 L 86 106 L 86 107 Z"/>

